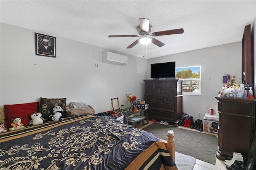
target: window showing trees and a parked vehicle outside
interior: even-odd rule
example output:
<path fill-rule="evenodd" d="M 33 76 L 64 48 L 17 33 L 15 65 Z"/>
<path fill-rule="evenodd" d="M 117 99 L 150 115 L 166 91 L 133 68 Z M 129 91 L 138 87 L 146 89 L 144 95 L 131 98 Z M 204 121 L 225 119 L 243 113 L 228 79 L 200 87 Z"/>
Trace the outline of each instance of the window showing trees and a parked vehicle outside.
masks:
<path fill-rule="evenodd" d="M 183 95 L 201 95 L 201 66 L 177 67 L 175 77 L 182 81 Z"/>

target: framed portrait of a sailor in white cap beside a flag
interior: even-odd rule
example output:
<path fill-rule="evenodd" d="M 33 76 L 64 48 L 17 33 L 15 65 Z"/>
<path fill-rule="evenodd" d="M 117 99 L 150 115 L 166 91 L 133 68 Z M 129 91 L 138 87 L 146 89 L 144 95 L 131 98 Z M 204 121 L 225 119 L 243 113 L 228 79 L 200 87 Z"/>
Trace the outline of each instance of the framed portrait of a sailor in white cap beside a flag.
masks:
<path fill-rule="evenodd" d="M 56 57 L 56 37 L 35 33 L 36 55 Z"/>

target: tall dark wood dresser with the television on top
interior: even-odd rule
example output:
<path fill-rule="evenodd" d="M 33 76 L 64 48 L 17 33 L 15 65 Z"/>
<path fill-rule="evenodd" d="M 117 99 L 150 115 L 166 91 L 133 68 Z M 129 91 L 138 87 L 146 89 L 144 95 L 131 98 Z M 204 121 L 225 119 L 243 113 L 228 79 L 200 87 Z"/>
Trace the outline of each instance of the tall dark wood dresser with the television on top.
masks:
<path fill-rule="evenodd" d="M 177 79 L 144 80 L 148 117 L 175 123 L 182 118 L 182 81 Z"/>

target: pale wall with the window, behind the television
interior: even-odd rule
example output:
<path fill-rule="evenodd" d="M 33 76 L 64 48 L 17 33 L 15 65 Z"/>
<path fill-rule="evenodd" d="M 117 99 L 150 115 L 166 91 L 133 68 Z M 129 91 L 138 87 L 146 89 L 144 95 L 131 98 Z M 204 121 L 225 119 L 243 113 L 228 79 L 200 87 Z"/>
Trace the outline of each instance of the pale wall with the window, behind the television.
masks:
<path fill-rule="evenodd" d="M 242 40 L 242 37 L 241 37 Z M 150 78 L 150 64 L 176 61 L 176 67 L 201 65 L 201 96 L 183 95 L 183 112 L 198 119 L 204 117 L 207 107 L 216 111 L 218 91 L 222 88 L 222 76 L 225 73 L 238 77 L 236 83 L 241 83 L 242 43 L 230 43 L 149 59 L 147 77 Z"/>

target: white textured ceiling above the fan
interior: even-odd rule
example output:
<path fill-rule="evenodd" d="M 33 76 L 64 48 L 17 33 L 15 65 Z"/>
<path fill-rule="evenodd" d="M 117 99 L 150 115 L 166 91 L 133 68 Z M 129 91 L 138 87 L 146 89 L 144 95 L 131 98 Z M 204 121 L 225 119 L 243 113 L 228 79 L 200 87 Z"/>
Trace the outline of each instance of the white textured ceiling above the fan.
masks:
<path fill-rule="evenodd" d="M 154 58 L 242 40 L 244 26 L 253 24 L 256 1 L 0 1 L 1 22 L 68 38 L 114 51 Z M 152 32 L 183 28 L 183 34 L 154 37 L 165 43 L 138 43 L 138 18 L 148 18 Z M 147 53 L 146 53 L 147 51 Z"/>

